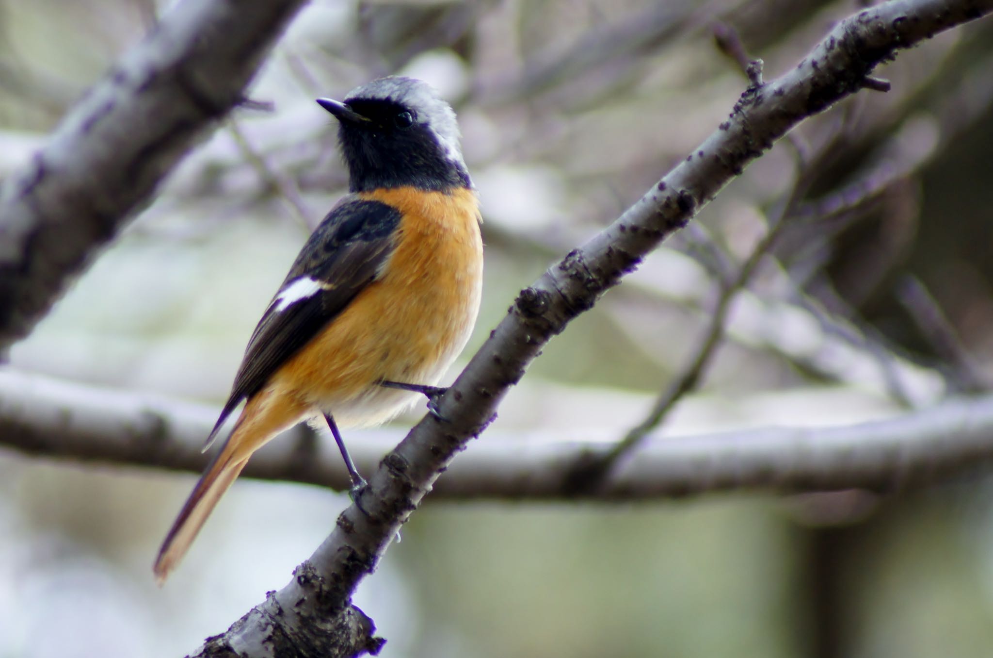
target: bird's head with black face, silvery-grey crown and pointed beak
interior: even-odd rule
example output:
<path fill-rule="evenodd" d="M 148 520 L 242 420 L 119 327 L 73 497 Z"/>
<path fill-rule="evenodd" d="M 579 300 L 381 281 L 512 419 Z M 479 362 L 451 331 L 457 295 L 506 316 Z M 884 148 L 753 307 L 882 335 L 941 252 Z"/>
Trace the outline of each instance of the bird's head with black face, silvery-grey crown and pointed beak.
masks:
<path fill-rule="evenodd" d="M 338 118 L 350 188 L 471 188 L 455 112 L 427 82 L 380 78 L 344 101 L 318 98 Z"/>

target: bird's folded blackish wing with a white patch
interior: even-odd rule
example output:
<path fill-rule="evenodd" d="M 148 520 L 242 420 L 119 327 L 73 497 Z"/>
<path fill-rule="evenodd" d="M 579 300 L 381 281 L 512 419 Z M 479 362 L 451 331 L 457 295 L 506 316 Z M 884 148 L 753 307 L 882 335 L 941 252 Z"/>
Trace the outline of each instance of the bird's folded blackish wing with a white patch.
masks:
<path fill-rule="evenodd" d="M 245 348 L 208 444 L 242 400 L 306 345 L 373 281 L 395 247 L 400 211 L 353 196 L 328 213 L 300 250 Z"/>

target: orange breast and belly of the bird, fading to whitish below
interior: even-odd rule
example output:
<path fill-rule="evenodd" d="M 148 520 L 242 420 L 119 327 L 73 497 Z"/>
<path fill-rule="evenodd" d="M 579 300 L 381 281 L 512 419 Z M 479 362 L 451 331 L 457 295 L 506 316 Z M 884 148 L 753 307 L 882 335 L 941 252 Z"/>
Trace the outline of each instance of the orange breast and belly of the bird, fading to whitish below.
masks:
<path fill-rule="evenodd" d="M 266 387 L 303 415 L 331 412 L 341 426 L 377 424 L 417 401 L 417 394 L 377 386 L 379 380 L 437 384 L 469 340 L 483 285 L 471 190 L 359 196 L 401 211 L 396 248 L 379 278 Z"/>

